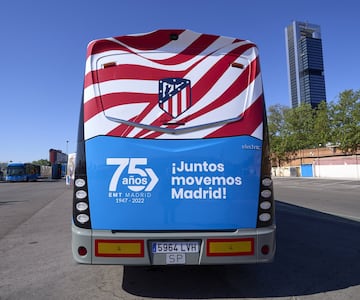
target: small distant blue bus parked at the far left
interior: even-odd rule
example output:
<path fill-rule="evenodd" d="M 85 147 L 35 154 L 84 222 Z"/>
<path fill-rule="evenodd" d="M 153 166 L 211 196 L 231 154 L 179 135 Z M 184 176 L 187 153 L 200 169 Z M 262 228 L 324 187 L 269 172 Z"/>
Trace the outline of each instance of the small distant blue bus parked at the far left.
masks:
<path fill-rule="evenodd" d="M 31 163 L 9 163 L 6 181 L 36 181 L 40 177 L 40 166 Z"/>

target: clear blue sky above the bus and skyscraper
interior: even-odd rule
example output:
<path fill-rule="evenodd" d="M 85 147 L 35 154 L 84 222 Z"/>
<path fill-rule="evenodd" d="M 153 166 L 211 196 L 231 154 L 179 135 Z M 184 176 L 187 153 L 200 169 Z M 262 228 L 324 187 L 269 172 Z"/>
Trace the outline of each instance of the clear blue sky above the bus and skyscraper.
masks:
<path fill-rule="evenodd" d="M 358 0 L 5 0 L 0 10 L 0 162 L 76 151 L 89 41 L 160 28 L 255 42 L 267 106 L 290 105 L 284 28 L 321 26 L 328 101 L 360 89 Z M 67 142 L 68 141 L 68 142 Z"/>

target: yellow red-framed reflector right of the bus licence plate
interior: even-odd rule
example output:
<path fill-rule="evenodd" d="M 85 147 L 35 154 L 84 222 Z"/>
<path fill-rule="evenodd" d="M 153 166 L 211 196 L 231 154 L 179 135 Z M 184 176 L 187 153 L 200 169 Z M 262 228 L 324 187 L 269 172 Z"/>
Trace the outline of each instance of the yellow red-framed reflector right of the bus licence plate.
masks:
<path fill-rule="evenodd" d="M 208 256 L 254 255 L 254 239 L 208 239 Z"/>

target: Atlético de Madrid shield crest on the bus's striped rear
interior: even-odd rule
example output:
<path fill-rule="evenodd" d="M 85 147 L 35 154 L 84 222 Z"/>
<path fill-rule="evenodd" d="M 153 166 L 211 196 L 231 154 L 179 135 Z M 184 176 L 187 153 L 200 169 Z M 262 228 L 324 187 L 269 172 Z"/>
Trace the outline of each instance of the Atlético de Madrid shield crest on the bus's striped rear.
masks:
<path fill-rule="evenodd" d="M 191 83 L 184 78 L 159 80 L 159 106 L 173 118 L 191 107 Z"/>

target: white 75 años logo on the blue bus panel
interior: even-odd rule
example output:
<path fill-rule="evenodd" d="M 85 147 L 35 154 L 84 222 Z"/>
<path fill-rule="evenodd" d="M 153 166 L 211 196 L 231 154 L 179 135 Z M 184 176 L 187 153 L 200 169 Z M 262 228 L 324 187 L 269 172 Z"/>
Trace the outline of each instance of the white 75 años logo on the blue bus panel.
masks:
<path fill-rule="evenodd" d="M 153 169 L 146 167 L 147 158 L 107 158 L 106 165 L 118 166 L 109 184 L 111 192 L 117 190 L 119 181 L 133 192 L 151 192 L 159 181 Z"/>

